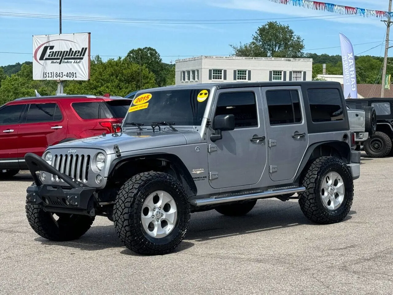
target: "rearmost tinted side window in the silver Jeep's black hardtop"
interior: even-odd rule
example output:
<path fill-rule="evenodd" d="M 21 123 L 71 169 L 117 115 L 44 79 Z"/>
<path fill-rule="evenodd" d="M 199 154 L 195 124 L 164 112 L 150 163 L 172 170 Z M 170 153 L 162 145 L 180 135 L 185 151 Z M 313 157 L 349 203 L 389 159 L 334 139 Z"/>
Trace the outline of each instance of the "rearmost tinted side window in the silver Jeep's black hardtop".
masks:
<path fill-rule="evenodd" d="M 341 121 L 343 105 L 338 89 L 308 89 L 312 122 Z"/>

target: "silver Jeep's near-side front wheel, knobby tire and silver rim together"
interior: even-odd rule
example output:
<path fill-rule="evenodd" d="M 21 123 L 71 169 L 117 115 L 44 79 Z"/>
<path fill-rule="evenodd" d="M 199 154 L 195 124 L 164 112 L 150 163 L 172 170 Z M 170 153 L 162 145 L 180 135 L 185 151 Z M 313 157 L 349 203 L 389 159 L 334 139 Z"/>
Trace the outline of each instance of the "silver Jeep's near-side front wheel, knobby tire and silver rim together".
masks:
<path fill-rule="evenodd" d="M 113 211 L 120 240 L 132 251 L 147 255 L 173 251 L 190 220 L 183 185 L 162 172 L 139 173 L 126 181 Z"/>

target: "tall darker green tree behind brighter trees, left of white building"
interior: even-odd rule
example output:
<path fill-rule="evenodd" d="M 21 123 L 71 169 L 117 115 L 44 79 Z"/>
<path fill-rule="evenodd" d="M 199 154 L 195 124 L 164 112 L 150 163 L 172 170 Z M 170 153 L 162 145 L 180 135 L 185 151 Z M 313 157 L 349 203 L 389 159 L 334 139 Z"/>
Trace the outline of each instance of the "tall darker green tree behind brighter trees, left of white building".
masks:
<path fill-rule="evenodd" d="M 157 86 L 166 86 L 166 66 L 162 63 L 160 54 L 151 47 L 130 50 L 125 57 L 131 63 L 145 66 L 155 76 Z"/>

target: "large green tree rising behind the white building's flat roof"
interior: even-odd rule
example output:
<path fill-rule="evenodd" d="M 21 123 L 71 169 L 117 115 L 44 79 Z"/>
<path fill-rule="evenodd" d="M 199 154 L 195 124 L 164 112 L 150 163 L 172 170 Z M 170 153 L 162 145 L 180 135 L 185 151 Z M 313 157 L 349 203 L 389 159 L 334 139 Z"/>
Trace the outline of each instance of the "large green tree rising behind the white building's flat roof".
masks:
<path fill-rule="evenodd" d="M 304 42 L 289 27 L 267 22 L 255 31 L 252 41 L 240 46 L 230 45 L 235 56 L 303 57 Z"/>

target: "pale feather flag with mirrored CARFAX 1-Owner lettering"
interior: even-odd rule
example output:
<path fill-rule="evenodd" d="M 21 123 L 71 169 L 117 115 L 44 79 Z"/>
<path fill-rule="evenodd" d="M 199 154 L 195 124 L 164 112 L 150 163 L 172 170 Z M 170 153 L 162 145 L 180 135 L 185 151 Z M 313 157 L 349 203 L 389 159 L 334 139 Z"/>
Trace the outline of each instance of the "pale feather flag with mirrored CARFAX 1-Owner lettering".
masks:
<path fill-rule="evenodd" d="M 351 41 L 340 33 L 341 57 L 343 61 L 344 98 L 358 98 L 356 84 L 355 55 Z"/>

